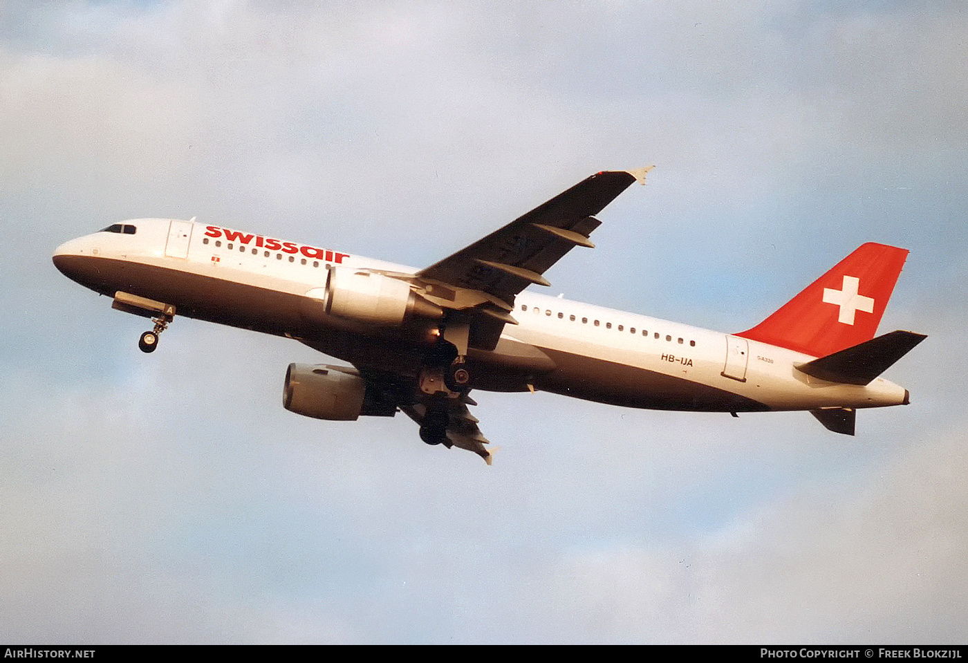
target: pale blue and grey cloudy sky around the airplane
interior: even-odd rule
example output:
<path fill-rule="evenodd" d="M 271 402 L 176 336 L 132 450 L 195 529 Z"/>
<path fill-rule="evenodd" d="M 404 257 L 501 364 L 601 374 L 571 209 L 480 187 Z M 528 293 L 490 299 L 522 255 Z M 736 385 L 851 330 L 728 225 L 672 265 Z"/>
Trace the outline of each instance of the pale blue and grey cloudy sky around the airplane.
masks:
<path fill-rule="evenodd" d="M 0 0 L 0 641 L 963 644 L 965 35 L 929 0 Z M 420 267 L 652 164 L 553 294 L 735 332 L 900 246 L 911 405 L 843 437 L 474 392 L 487 467 L 287 412 L 333 360 L 286 339 L 143 354 L 50 261 L 197 217 Z"/>

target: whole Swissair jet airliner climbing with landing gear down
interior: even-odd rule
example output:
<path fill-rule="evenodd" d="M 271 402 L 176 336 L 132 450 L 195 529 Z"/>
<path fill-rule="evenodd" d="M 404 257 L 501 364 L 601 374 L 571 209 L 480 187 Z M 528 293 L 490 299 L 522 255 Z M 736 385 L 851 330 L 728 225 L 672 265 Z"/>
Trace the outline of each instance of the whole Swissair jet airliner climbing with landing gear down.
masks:
<path fill-rule="evenodd" d="M 112 307 L 287 336 L 350 366 L 290 364 L 283 405 L 329 420 L 405 412 L 428 444 L 491 464 L 471 389 L 623 407 L 809 410 L 854 434 L 856 410 L 908 404 L 879 377 L 925 338 L 874 338 L 908 252 L 864 244 L 755 327 L 724 334 L 549 297 L 544 273 L 593 245 L 594 215 L 650 167 L 604 171 L 415 270 L 192 221 L 136 219 L 69 241 L 54 264 Z"/>

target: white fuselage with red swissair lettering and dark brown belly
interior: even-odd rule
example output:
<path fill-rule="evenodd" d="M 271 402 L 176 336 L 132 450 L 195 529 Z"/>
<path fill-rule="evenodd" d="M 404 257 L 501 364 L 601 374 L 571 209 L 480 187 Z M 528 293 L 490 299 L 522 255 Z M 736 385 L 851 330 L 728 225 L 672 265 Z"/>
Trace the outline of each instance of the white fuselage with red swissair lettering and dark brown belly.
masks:
<path fill-rule="evenodd" d="M 203 319 L 297 338 L 301 334 L 298 329 L 287 331 L 282 326 L 273 326 L 269 318 L 276 314 L 263 310 L 264 297 L 249 297 L 246 292 L 305 298 L 307 292 L 325 284 L 326 268 L 334 265 L 408 274 L 416 271 L 403 265 L 219 226 L 167 219 L 124 223 L 135 226 L 136 232 L 98 232 L 63 244 L 55 254 L 55 262 L 58 257 L 62 258 L 58 267 L 104 294 L 123 290 L 146 297 L 164 296 L 164 301 L 173 299 L 169 303 L 177 306 L 180 314 L 193 316 L 197 312 L 195 316 Z M 93 276 L 72 274 L 73 268 L 63 266 L 71 259 L 109 261 L 120 267 L 114 270 L 116 276 L 108 283 L 97 281 Z M 164 271 L 168 275 L 166 283 L 177 281 L 171 275 L 181 275 L 187 279 L 186 284 L 217 283 L 231 287 L 223 294 L 217 287 L 206 293 L 201 286 L 192 286 L 196 291 L 184 293 L 186 301 L 183 302 L 177 299 L 173 286 L 163 288 L 162 292 L 144 289 L 138 283 L 152 270 Z M 223 296 L 231 298 L 230 312 L 208 315 L 206 312 L 219 309 L 220 304 L 206 302 L 205 297 Z M 690 407 L 688 390 L 682 391 L 679 386 L 676 389 L 680 393 L 671 400 L 664 399 L 661 393 L 650 398 L 632 393 L 652 384 L 661 390 L 666 388 L 663 385 L 674 383 L 733 394 L 761 404 L 757 409 L 883 407 L 906 402 L 905 390 L 883 378 L 875 378 L 867 385 L 853 385 L 809 377 L 796 366 L 815 357 L 678 322 L 529 291 L 518 295 L 512 315 L 519 324 L 505 325 L 502 339 L 539 348 L 560 366 L 568 365 L 547 376 L 535 376 L 529 384 L 579 398 L 632 407 L 742 409 L 728 404 L 711 406 L 699 397 L 695 407 Z M 323 320 L 322 327 L 327 327 L 329 322 Z M 339 320 L 331 322 L 333 329 L 345 329 Z M 320 335 L 325 332 L 324 328 L 319 330 Z M 639 375 L 654 379 L 629 377 Z"/>

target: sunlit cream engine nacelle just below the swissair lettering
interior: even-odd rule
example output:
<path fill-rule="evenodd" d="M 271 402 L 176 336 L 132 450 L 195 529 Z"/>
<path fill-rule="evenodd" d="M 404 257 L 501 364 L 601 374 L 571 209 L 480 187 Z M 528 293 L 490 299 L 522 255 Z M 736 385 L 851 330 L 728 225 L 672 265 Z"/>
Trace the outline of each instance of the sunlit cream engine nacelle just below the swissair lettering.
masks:
<path fill-rule="evenodd" d="M 410 290 L 406 281 L 341 267 L 329 270 L 323 307 L 330 316 L 384 326 L 443 316 L 439 306 Z"/>

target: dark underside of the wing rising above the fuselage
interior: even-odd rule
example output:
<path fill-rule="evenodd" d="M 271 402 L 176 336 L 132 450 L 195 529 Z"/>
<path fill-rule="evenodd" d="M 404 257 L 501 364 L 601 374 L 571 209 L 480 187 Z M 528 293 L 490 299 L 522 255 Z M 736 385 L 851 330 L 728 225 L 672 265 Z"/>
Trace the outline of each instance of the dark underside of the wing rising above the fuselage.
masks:
<path fill-rule="evenodd" d="M 591 175 L 507 226 L 421 270 L 417 277 L 478 290 L 513 308 L 514 296 L 521 290 L 531 284 L 549 285 L 542 276 L 545 270 L 572 247 L 594 246 L 589 235 L 601 222 L 593 215 L 632 182 L 644 184 L 651 168 Z"/>

